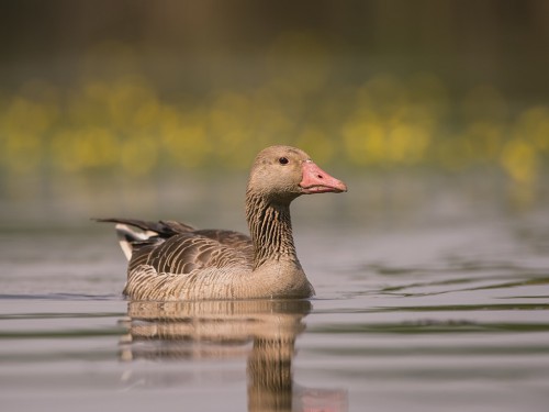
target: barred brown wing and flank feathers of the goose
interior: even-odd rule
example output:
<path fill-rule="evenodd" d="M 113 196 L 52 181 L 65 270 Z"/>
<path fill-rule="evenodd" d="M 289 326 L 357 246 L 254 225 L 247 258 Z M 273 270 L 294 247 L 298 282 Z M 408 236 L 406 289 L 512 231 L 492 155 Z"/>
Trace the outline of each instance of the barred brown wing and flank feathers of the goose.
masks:
<path fill-rule="evenodd" d="M 124 293 L 136 300 L 242 299 L 253 250 L 238 232 L 180 233 L 134 250 Z"/>

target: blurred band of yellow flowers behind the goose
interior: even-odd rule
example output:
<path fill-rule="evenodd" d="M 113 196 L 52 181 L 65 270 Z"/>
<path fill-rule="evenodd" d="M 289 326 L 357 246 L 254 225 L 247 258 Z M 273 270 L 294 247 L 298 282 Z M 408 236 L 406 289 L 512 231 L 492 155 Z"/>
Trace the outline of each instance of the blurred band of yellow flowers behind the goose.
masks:
<path fill-rule="evenodd" d="M 314 65 L 282 64 L 299 60 L 300 45 Z M 460 102 L 430 74 L 382 74 L 344 88 L 327 81 L 328 55 L 311 38 L 282 37 L 266 66 L 253 89 L 175 103 L 138 75 L 87 75 L 70 91 L 29 81 L 0 97 L 0 166 L 12 174 L 245 169 L 262 146 L 289 143 L 322 164 L 497 165 L 514 181 L 533 182 L 549 154 L 549 107 L 511 113 L 490 86 Z"/>

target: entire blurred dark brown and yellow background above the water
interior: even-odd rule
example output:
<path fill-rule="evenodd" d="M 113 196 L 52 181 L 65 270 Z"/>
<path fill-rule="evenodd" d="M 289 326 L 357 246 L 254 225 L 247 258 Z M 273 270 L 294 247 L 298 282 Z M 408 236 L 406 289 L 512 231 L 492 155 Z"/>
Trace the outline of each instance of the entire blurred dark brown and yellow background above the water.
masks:
<path fill-rule="evenodd" d="M 171 204 L 182 199 L 158 201 L 146 188 L 245 174 L 278 143 L 350 179 L 490 175 L 522 203 L 542 191 L 548 1 L 0 9 L 4 221 Z"/>

